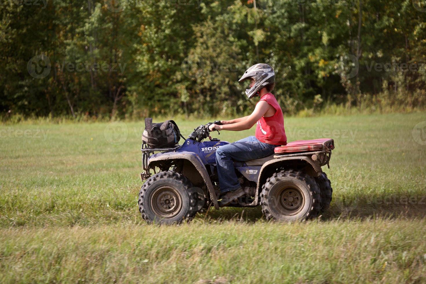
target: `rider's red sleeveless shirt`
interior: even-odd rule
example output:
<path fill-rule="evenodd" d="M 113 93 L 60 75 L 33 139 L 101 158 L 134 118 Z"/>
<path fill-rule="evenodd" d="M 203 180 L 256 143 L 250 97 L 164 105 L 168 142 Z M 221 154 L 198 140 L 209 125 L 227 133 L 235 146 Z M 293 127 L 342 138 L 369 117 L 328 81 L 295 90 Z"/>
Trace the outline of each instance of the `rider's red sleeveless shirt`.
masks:
<path fill-rule="evenodd" d="M 263 116 L 256 123 L 256 138 L 263 143 L 272 145 L 286 145 L 287 136 L 284 130 L 284 117 L 276 98 L 271 93 L 264 95 L 260 100 L 265 100 L 275 109 L 275 114 L 268 118 Z M 259 103 L 258 102 L 258 103 Z"/>

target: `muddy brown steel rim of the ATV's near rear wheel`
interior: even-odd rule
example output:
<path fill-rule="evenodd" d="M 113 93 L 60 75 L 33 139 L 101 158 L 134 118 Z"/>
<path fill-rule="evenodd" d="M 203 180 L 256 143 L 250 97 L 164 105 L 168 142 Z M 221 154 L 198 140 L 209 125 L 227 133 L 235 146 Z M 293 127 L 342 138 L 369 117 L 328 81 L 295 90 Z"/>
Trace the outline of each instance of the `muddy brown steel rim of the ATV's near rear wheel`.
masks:
<path fill-rule="evenodd" d="M 299 213 L 305 204 L 302 191 L 296 186 L 286 185 L 280 187 L 273 196 L 275 208 L 283 215 Z"/>

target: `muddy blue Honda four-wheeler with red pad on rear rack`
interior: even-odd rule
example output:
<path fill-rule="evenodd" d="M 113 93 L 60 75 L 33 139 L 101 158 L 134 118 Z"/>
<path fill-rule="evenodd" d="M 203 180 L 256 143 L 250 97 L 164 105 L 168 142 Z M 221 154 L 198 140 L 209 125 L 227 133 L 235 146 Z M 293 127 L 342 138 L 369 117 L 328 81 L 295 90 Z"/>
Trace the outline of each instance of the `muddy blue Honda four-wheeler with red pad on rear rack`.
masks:
<path fill-rule="evenodd" d="M 219 209 L 216 149 L 228 142 L 212 139 L 210 124 L 198 126 L 182 145 L 150 148 L 142 144 L 141 179 L 146 181 L 138 206 L 148 223 L 180 223 L 210 206 Z M 333 189 L 321 167 L 329 167 L 333 149 L 333 139 L 294 141 L 276 147 L 268 157 L 234 161 L 246 195 L 227 206 L 260 205 L 267 220 L 291 222 L 317 217 L 331 202 Z"/>

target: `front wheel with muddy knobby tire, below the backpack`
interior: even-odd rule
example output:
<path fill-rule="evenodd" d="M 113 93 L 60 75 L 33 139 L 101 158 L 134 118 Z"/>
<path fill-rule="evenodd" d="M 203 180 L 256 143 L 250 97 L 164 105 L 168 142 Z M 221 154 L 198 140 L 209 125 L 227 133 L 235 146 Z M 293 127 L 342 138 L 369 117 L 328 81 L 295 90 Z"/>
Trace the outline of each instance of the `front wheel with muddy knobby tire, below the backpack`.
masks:
<path fill-rule="evenodd" d="M 180 224 L 191 221 L 198 209 L 198 193 L 191 182 L 177 172 L 159 172 L 145 181 L 138 206 L 148 224 Z"/>

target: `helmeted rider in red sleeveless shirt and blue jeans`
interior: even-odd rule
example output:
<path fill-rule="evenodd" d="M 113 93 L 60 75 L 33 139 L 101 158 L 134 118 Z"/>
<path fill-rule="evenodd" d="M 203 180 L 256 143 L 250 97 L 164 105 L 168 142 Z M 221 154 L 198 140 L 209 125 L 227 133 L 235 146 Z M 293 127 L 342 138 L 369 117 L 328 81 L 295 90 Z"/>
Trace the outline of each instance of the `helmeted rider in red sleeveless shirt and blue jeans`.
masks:
<path fill-rule="evenodd" d="M 251 115 L 233 120 L 222 120 L 223 125 L 212 124 L 213 130 L 241 131 L 250 129 L 256 123 L 255 136 L 221 146 L 216 150 L 216 166 L 219 174 L 222 195 L 220 206 L 226 206 L 245 195 L 235 173 L 233 161 L 249 161 L 272 155 L 274 148 L 287 144 L 282 110 L 271 93 L 275 86 L 275 73 L 271 66 L 259 63 L 251 66 L 239 79 L 250 80 L 247 97 L 259 96 L 260 99 Z"/>

